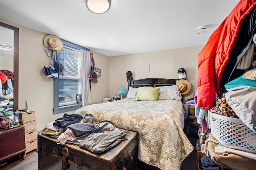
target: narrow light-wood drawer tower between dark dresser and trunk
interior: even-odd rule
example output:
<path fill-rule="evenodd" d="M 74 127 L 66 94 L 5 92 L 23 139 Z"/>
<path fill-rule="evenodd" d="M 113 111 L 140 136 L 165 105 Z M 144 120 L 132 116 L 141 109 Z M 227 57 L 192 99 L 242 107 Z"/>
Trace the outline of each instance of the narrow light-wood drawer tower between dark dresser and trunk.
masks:
<path fill-rule="evenodd" d="M 36 111 L 28 109 L 26 112 L 20 112 L 20 124 L 25 126 L 26 152 L 37 149 Z"/>

